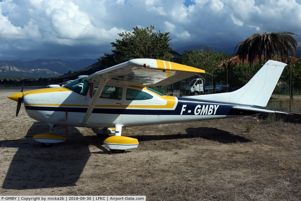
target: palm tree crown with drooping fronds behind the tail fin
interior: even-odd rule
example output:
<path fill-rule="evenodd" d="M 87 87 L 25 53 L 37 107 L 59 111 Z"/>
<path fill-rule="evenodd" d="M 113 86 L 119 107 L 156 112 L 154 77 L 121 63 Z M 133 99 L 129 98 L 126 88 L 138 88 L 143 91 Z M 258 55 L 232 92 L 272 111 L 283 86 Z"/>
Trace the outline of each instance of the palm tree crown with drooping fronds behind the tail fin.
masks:
<path fill-rule="evenodd" d="M 243 63 L 248 56 L 250 64 L 253 64 L 256 58 L 259 58 L 259 63 L 261 63 L 262 55 L 264 55 L 264 58 L 272 58 L 272 55 L 278 55 L 281 61 L 285 61 L 289 53 L 295 56 L 298 47 L 297 41 L 292 35 L 296 34 L 287 31 L 254 33 L 235 47 L 236 50 L 239 46 L 236 55 L 242 58 Z"/>

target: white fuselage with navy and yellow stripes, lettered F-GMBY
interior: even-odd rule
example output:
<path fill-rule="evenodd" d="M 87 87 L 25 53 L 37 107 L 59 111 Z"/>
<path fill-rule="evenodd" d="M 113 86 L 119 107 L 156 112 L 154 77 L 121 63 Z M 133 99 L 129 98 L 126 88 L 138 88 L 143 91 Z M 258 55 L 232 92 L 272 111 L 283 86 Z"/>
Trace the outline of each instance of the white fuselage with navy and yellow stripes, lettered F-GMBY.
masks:
<path fill-rule="evenodd" d="M 145 87 L 117 87 L 123 89 L 122 98 L 120 100 L 99 98 L 85 125 L 80 121 L 92 100 L 89 93 L 83 96 L 64 87 L 33 90 L 24 93 L 23 103 L 29 117 L 37 121 L 57 126 L 89 128 L 114 127 L 115 124 L 122 124 L 124 127 L 166 124 L 256 114 L 250 111 L 243 113 L 233 111 L 231 110 L 233 104 L 230 103 L 160 96 Z M 153 98 L 128 100 L 126 98 L 128 88 L 143 91 Z"/>

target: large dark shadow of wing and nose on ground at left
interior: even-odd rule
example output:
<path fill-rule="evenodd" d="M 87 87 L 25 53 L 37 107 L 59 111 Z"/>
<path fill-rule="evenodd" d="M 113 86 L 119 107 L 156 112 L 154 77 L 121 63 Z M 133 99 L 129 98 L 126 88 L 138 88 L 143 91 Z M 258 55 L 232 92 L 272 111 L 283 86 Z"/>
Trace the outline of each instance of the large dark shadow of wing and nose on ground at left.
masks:
<path fill-rule="evenodd" d="M 46 124 L 35 122 L 28 130 L 26 139 L 0 141 L 0 146 L 19 148 L 11 161 L 3 189 L 75 186 L 91 155 L 89 144 L 102 144 L 104 140 L 83 137 L 79 130 L 71 127 L 66 142 L 45 148 L 32 139 L 33 135 L 38 134 L 38 127 L 39 130 L 49 130 Z M 59 129 L 63 131 L 65 128 Z M 104 154 L 108 153 L 102 146 L 99 148 Z"/>

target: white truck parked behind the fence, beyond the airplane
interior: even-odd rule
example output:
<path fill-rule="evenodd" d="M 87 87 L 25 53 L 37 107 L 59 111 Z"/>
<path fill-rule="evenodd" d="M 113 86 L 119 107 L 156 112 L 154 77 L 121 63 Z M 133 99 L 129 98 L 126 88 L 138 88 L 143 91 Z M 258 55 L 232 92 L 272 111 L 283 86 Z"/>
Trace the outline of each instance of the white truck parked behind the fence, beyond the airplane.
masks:
<path fill-rule="evenodd" d="M 227 85 L 216 85 L 216 89 L 223 86 L 226 87 Z M 205 80 L 203 80 L 202 78 L 191 80 L 191 83 L 186 88 L 187 94 L 189 94 L 190 91 L 190 95 L 202 95 L 206 93 L 208 90 L 212 90 L 212 85 L 205 86 Z"/>

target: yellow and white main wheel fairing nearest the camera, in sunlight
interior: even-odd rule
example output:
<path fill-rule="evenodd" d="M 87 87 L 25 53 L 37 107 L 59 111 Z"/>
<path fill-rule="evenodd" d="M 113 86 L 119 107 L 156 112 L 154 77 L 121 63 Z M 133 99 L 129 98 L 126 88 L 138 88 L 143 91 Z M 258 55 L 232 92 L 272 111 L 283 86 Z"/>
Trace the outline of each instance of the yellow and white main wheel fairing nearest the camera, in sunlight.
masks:
<path fill-rule="evenodd" d="M 111 136 L 104 140 L 104 145 L 110 150 L 125 150 L 137 148 L 137 139 L 126 136 Z"/>

